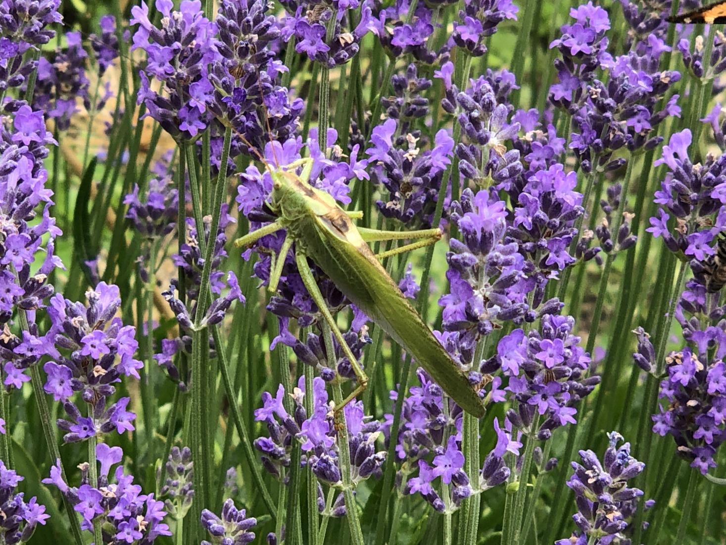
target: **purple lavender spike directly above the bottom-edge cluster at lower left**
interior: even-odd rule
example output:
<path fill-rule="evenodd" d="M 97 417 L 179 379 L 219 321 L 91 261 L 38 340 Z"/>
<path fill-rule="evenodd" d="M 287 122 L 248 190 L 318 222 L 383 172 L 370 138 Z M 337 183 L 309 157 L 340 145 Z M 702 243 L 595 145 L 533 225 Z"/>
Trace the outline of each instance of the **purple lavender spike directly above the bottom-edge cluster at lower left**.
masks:
<path fill-rule="evenodd" d="M 44 347 L 53 360 L 45 363 L 46 393 L 62 402 L 70 419 L 59 419 L 66 443 L 81 441 L 114 429 L 118 433 L 134 429 L 134 413 L 126 411 L 129 397 L 115 402 L 113 384 L 121 376 L 139 379 L 144 364 L 134 358 L 139 343 L 136 328 L 124 326 L 116 312 L 121 306 L 118 287 L 99 283 L 86 291 L 88 306 L 70 302 L 56 294 L 48 307 L 51 329 Z M 73 395 L 92 407 L 89 416 L 81 416 Z"/>

